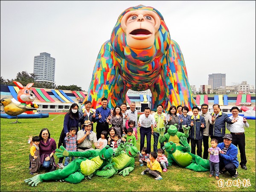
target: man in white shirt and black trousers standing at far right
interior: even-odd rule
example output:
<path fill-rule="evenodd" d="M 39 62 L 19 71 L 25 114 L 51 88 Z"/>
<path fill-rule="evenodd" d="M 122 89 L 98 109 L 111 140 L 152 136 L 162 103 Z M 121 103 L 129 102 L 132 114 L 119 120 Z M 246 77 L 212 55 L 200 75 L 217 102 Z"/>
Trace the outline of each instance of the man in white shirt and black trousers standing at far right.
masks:
<path fill-rule="evenodd" d="M 246 155 L 245 155 L 245 135 L 244 135 L 244 128 L 249 127 L 249 124 L 246 120 L 246 118 L 239 116 L 239 108 L 238 107 L 233 107 L 231 108 L 232 116 L 230 116 L 230 119 L 236 119 L 237 122 L 234 124 L 230 125 L 227 124 L 227 129 L 230 131 L 230 134 L 233 137 L 232 143 L 234 145 L 238 145 L 239 151 L 240 151 L 240 166 L 242 169 L 247 170 L 246 167 Z"/>

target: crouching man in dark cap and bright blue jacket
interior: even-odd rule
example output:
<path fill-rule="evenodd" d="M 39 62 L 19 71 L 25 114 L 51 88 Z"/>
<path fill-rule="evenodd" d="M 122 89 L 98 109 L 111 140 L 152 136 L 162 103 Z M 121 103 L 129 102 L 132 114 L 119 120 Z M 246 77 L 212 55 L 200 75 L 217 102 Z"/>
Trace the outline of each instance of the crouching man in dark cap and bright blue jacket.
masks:
<path fill-rule="evenodd" d="M 219 154 L 219 170 L 221 174 L 229 172 L 231 177 L 236 178 L 238 176 L 236 169 L 239 166 L 237 160 L 238 149 L 232 144 L 231 134 L 225 134 L 223 139 L 224 142 L 218 144 L 218 147 L 224 152 L 224 154 Z"/>

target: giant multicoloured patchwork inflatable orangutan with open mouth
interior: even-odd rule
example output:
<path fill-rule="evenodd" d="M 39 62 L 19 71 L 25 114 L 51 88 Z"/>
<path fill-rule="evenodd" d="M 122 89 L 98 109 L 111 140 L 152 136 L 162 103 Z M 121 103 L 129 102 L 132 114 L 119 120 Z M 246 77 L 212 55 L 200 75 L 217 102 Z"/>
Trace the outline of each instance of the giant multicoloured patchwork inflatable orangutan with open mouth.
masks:
<path fill-rule="evenodd" d="M 153 7 L 130 7 L 119 16 L 99 51 L 87 100 L 97 108 L 106 97 L 113 108 L 126 101 L 128 89 L 150 89 L 153 110 L 158 104 L 196 105 L 180 47 Z"/>

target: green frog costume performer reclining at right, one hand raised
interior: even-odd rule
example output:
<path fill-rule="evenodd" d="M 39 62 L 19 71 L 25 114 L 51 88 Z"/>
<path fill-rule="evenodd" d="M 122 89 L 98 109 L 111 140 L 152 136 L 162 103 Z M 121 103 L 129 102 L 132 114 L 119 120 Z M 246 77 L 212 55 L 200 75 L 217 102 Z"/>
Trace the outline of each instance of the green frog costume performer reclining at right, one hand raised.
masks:
<path fill-rule="evenodd" d="M 203 159 L 198 155 L 190 153 L 190 146 L 186 137 L 180 138 L 180 143 L 184 146 L 176 146 L 172 141 L 166 143 L 163 147 L 168 153 L 169 166 L 173 162 L 186 169 L 191 169 L 195 172 L 207 172 L 210 169 L 209 160 Z"/>

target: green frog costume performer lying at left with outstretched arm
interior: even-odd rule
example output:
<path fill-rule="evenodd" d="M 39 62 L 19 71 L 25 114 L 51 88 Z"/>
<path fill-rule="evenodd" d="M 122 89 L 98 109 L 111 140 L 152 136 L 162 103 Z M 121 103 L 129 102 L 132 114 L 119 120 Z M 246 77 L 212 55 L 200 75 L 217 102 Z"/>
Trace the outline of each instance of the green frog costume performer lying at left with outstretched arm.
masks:
<path fill-rule="evenodd" d="M 64 180 L 69 183 L 80 183 L 85 176 L 92 175 L 97 169 L 107 169 L 110 163 L 111 157 L 115 155 L 113 148 L 108 145 L 102 150 L 90 150 L 90 151 L 76 151 L 69 152 L 62 145 L 60 149 L 56 149 L 57 157 L 82 157 L 76 158 L 71 161 L 63 169 L 58 169 L 53 172 L 35 175 L 32 178 L 24 180 L 31 186 L 37 186 L 38 183 L 47 180 Z"/>

